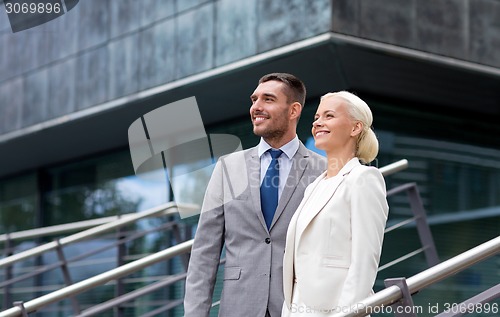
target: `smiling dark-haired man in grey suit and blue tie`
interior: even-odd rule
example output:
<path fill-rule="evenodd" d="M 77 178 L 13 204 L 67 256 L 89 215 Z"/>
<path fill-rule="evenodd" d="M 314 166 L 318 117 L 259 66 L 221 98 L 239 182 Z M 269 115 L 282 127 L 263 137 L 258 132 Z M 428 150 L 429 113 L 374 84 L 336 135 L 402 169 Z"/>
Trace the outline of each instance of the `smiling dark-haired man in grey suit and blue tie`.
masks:
<path fill-rule="evenodd" d="M 256 147 L 222 157 L 216 164 L 191 252 L 185 317 L 209 315 L 224 245 L 219 316 L 281 316 L 288 223 L 307 185 L 326 169 L 325 159 L 307 150 L 296 134 L 305 95 L 303 82 L 291 74 L 272 73 L 259 80 L 251 95 L 250 116 L 253 132 L 261 140 Z M 270 149 L 281 152 L 274 158 Z M 261 202 L 261 183 L 275 161 L 279 186 L 277 175 L 271 183 L 276 185 L 277 207 L 264 215 L 270 203 Z"/>

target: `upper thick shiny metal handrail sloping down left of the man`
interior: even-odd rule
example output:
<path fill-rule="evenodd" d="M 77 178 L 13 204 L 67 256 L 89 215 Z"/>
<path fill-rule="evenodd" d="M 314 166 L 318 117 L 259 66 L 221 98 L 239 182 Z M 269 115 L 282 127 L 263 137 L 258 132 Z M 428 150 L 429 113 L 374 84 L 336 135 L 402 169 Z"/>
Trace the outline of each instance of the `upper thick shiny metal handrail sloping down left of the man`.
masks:
<path fill-rule="evenodd" d="M 110 223 L 105 223 L 103 225 L 90 228 L 84 231 L 80 231 L 78 233 L 75 233 L 73 235 L 64 237 L 59 239 L 58 241 L 52 241 L 46 244 L 42 244 L 40 246 L 34 247 L 32 249 L 26 250 L 24 252 L 20 252 L 18 254 L 11 255 L 9 257 L 0 259 L 0 268 L 8 265 L 12 265 L 18 261 L 28 259 L 30 257 L 40 255 L 44 252 L 55 250 L 58 247 L 62 247 L 71 243 L 79 242 L 85 239 L 89 239 L 95 236 L 98 236 L 100 234 L 103 234 L 107 231 L 117 229 L 119 227 L 122 227 L 124 225 L 133 223 L 137 220 L 140 220 L 142 218 L 147 218 L 151 217 L 153 215 L 157 214 L 164 214 L 164 215 L 173 215 L 177 213 L 177 204 L 173 202 L 169 202 L 163 205 L 160 205 L 158 207 L 150 208 L 141 212 L 138 212 L 134 215 L 131 215 L 130 217 L 124 217 L 120 220 L 110 222 Z M 198 207 L 197 205 L 182 205 L 183 208 L 190 208 L 193 211 L 197 210 Z M 173 209 L 173 210 L 169 210 Z"/>

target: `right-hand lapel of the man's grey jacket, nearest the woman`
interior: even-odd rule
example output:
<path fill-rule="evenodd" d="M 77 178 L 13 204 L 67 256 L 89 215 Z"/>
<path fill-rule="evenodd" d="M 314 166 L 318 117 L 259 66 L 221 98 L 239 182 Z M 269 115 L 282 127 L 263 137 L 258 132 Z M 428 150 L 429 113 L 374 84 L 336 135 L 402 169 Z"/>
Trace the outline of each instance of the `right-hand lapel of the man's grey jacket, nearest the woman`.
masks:
<path fill-rule="evenodd" d="M 301 143 L 297 149 L 297 153 L 295 153 L 292 158 L 292 167 L 290 168 L 290 173 L 286 179 L 286 184 L 283 188 L 283 192 L 281 193 L 280 200 L 278 201 L 278 206 L 276 207 L 276 212 L 274 213 L 273 221 L 269 230 L 273 228 L 274 224 L 283 213 L 283 210 L 285 210 L 290 198 L 292 198 L 293 193 L 297 189 L 299 181 L 307 168 L 308 157 L 309 154 L 307 153 L 307 149 Z"/>

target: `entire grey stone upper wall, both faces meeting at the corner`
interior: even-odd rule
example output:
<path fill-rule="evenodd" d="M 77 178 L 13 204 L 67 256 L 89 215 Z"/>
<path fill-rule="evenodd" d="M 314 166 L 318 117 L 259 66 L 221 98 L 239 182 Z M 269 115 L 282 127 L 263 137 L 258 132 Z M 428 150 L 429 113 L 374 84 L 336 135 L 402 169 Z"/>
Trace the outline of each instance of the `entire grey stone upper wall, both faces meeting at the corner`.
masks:
<path fill-rule="evenodd" d="M 499 0 L 84 0 L 13 34 L 2 7 L 0 134 L 328 31 L 499 67 L 498 21 Z"/>

